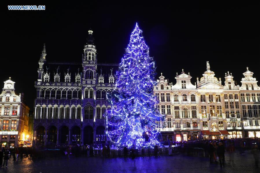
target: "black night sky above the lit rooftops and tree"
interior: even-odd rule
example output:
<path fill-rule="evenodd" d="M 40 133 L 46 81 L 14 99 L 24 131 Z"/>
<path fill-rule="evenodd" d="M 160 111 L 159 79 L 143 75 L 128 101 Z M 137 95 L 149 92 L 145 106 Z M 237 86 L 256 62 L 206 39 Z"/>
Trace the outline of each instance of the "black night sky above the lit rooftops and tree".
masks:
<path fill-rule="evenodd" d="M 158 75 L 163 72 L 170 82 L 175 83 L 176 72 L 180 74 L 184 68 L 194 83 L 206 70 L 206 61 L 215 76 L 222 78 L 222 84 L 228 70 L 240 84 L 246 66 L 260 80 L 259 3 L 187 6 L 157 2 L 149 6 L 134 2 L 128 5 L 85 2 L 1 5 L 0 82 L 11 76 L 16 82 L 16 93 L 25 93 L 31 109 L 43 43 L 47 61 L 81 62 L 90 27 L 94 31 L 98 62 L 119 63 L 138 22 Z M 46 10 L 11 11 L 7 5 L 46 5 Z"/>

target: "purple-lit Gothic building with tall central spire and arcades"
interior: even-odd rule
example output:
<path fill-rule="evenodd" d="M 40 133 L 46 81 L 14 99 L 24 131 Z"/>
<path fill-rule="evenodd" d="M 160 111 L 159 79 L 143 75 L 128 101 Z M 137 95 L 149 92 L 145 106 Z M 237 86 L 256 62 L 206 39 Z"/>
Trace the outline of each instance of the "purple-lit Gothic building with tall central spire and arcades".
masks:
<path fill-rule="evenodd" d="M 35 82 L 34 142 L 37 145 L 105 143 L 104 118 L 111 110 L 106 93 L 115 88 L 115 70 L 111 66 L 117 64 L 97 63 L 91 29 L 81 64 L 51 63 L 46 55 L 44 45 Z"/>

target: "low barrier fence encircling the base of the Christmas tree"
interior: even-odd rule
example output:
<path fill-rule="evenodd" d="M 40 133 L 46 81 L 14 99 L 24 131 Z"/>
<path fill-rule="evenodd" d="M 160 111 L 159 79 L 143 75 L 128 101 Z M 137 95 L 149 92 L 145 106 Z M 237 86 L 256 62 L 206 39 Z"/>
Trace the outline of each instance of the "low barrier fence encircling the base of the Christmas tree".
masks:
<path fill-rule="evenodd" d="M 131 157 L 131 149 L 127 150 L 127 153 L 124 155 L 124 150 L 123 149 L 116 149 L 116 148 L 110 148 L 110 153 L 105 153 L 106 155 L 103 154 L 102 152 L 103 148 L 95 148 L 93 150 L 93 155 L 94 156 L 99 156 L 99 157 Z M 175 153 L 178 153 L 180 151 L 180 146 L 165 146 L 158 148 L 158 152 L 154 151 L 154 148 L 138 148 L 134 149 L 134 155 L 135 157 L 149 157 L 149 156 L 163 156 L 163 155 L 172 155 Z"/>

